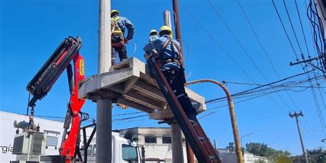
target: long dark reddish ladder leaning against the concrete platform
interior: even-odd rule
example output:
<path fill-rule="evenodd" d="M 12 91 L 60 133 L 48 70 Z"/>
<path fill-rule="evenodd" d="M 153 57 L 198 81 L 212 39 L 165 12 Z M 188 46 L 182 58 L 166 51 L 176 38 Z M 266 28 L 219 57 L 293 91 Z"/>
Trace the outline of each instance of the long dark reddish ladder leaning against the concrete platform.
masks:
<path fill-rule="evenodd" d="M 179 123 L 184 136 L 186 137 L 186 140 L 188 140 L 189 144 L 191 145 L 191 149 L 193 149 L 193 153 L 195 154 L 198 162 L 220 163 L 221 160 L 219 160 L 219 156 L 206 136 L 204 129 L 202 129 L 202 126 L 198 121 L 192 121 L 188 119 L 188 116 L 186 116 L 182 105 L 177 100 L 177 97 L 175 97 L 171 86 L 166 81 L 163 73 L 160 71 L 160 66 L 157 64 L 153 53 L 146 53 L 144 57 L 151 73 L 153 73 L 153 76 L 156 79 L 158 86 L 160 86 L 160 90 L 162 91 L 166 101 L 169 103 L 177 123 Z"/>

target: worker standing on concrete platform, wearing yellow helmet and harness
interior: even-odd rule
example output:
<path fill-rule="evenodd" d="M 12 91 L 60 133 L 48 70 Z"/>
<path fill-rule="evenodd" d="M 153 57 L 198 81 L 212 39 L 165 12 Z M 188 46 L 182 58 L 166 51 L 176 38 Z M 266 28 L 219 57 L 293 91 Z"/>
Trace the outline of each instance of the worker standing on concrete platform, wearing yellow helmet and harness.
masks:
<path fill-rule="evenodd" d="M 128 30 L 127 37 L 124 38 L 124 32 Z M 111 11 L 111 64 L 116 64 L 116 53 L 118 53 L 120 62 L 127 59 L 126 43 L 133 38 L 133 23 L 120 16 L 118 10 Z"/>

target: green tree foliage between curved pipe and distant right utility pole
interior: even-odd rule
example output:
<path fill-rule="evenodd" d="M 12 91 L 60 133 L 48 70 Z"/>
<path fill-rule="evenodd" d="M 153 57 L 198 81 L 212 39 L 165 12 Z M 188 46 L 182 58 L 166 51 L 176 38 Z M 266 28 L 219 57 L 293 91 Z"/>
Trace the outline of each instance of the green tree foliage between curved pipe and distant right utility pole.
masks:
<path fill-rule="evenodd" d="M 268 145 L 264 143 L 258 142 L 250 142 L 246 144 L 246 151 L 249 153 L 253 153 L 254 155 L 259 155 L 265 158 L 269 158 L 269 160 L 276 160 L 281 155 L 290 156 L 291 153 L 289 151 L 281 151 L 268 147 Z"/>

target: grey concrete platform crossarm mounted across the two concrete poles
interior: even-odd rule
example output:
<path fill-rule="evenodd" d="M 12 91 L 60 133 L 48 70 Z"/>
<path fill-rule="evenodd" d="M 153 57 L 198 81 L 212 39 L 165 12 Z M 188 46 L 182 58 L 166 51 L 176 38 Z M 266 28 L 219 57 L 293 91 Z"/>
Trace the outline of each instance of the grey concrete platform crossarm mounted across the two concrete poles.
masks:
<path fill-rule="evenodd" d="M 188 88 L 186 92 L 197 112 L 204 112 L 205 99 Z M 111 98 L 118 104 L 151 113 L 151 118 L 173 117 L 149 68 L 137 58 L 124 60 L 111 66 L 108 73 L 93 75 L 80 82 L 78 97 L 91 100 Z"/>

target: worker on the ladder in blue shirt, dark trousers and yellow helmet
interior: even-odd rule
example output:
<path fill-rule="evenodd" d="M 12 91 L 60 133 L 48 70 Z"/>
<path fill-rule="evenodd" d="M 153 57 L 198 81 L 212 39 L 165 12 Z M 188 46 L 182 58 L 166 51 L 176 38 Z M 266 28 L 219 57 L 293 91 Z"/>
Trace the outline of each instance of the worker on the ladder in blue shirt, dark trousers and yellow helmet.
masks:
<path fill-rule="evenodd" d="M 150 51 L 156 54 L 161 71 L 182 105 L 184 112 L 186 112 L 188 118 L 195 121 L 197 112 L 184 89 L 186 79 L 184 77 L 184 67 L 181 64 L 180 43 L 172 38 L 172 30 L 169 26 L 162 26 L 159 36 L 151 40 L 143 49 L 146 53 Z"/>

